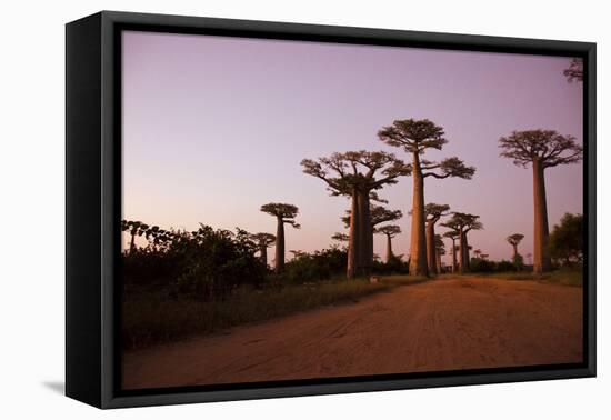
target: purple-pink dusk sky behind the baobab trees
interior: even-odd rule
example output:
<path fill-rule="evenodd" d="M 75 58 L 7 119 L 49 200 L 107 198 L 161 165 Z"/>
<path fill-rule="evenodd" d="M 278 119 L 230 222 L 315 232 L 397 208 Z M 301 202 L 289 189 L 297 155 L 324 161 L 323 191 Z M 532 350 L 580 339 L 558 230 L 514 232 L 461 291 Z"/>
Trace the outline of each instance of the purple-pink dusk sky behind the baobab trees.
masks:
<path fill-rule="evenodd" d="M 458 156 L 472 180 L 427 179 L 425 200 L 481 216 L 470 244 L 509 259 L 508 234 L 532 252 L 532 171 L 499 157 L 512 130 L 554 129 L 582 141 L 582 86 L 570 59 L 391 47 L 123 33 L 123 216 L 163 228 L 239 226 L 276 231 L 261 204 L 300 208 L 287 250 L 329 247 L 349 202 L 302 173 L 303 158 L 387 150 L 378 130 L 428 118 L 448 144 L 429 160 Z M 401 209 L 395 253 L 409 252 L 411 178 L 380 196 Z M 550 228 L 582 211 L 582 166 L 547 171 Z M 439 228 L 442 233 L 443 229 Z M 449 246 L 449 243 L 447 243 Z M 384 256 L 383 238 L 375 252 Z M 270 252 L 272 254 L 272 252 Z M 290 254 L 288 254 L 289 257 Z M 444 261 L 448 261 L 444 257 Z"/>

